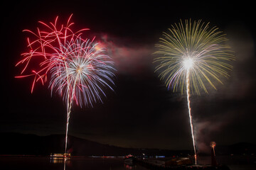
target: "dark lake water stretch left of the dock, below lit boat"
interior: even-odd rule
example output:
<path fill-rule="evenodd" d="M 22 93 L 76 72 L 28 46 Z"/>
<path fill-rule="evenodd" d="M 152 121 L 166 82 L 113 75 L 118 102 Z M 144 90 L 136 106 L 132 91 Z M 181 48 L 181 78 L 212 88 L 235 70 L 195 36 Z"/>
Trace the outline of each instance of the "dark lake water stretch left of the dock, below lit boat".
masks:
<path fill-rule="evenodd" d="M 146 170 L 146 168 L 124 164 L 122 158 L 71 158 L 65 164 L 63 159 L 50 157 L 0 157 L 3 170 Z"/>

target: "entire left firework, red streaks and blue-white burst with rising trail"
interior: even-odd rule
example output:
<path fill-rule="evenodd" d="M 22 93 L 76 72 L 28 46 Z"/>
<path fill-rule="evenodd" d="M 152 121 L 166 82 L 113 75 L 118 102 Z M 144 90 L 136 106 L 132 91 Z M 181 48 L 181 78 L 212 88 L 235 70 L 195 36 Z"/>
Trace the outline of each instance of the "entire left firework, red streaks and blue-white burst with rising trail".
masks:
<path fill-rule="evenodd" d="M 72 15 L 71 15 L 72 16 Z M 70 18 L 71 18 L 70 16 Z M 16 66 L 23 64 L 21 76 L 33 77 L 31 93 L 37 82 L 45 84 L 50 77 L 49 89 L 51 94 L 58 93 L 67 104 L 67 124 L 65 135 L 65 153 L 68 144 L 68 124 L 73 103 L 78 106 L 92 106 L 98 101 L 102 102 L 102 96 L 106 96 L 102 87 L 111 90 L 114 85 L 113 62 L 104 54 L 102 45 L 89 39 L 82 39 L 82 32 L 87 28 L 73 32 L 68 22 L 58 26 L 58 17 L 54 23 L 46 24 L 41 21 L 43 30 L 37 28 L 37 32 L 24 30 L 33 35 L 33 40 L 27 39 L 29 52 L 22 55 L 23 59 Z M 32 71 L 28 65 L 33 60 Z M 34 63 L 37 62 L 35 65 Z M 25 74 L 25 75 L 22 75 Z"/>

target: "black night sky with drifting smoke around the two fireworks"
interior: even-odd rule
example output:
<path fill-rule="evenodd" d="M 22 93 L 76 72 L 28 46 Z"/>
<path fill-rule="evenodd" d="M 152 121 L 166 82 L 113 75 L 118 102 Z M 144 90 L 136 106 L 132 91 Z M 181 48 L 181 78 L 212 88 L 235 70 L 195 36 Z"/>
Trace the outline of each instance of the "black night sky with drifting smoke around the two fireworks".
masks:
<path fill-rule="evenodd" d="M 120 147 L 193 149 L 186 96 L 168 91 L 154 72 L 154 45 L 161 33 L 180 19 L 210 22 L 227 34 L 236 61 L 230 79 L 217 91 L 191 96 L 199 151 L 217 145 L 256 143 L 255 4 L 223 1 L 26 1 L 1 4 L 1 118 L 0 132 L 65 134 L 65 103 L 50 96 L 48 84 L 33 78 L 15 79 L 21 67 L 28 33 L 38 21 L 65 23 L 73 13 L 74 30 L 96 36 L 108 47 L 117 69 L 114 92 L 92 108 L 74 107 L 69 135 Z M 236 4 L 234 4 L 236 3 Z M 4 139 L 1 139 L 4 140 Z"/>

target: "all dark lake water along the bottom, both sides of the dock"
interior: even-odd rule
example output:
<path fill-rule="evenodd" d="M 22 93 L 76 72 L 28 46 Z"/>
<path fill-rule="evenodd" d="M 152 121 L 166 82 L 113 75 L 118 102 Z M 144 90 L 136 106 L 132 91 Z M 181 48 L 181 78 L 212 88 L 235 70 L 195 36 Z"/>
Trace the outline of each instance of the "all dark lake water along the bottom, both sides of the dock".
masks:
<path fill-rule="evenodd" d="M 218 162 L 227 164 L 230 170 L 255 170 L 256 162 L 246 157 L 218 157 Z M 252 162 L 251 162 L 252 161 Z M 210 157 L 201 157 L 199 164 L 210 164 Z M 3 170 L 148 170 L 140 165 L 129 166 L 122 158 L 73 157 L 63 159 L 50 157 L 0 157 Z"/>

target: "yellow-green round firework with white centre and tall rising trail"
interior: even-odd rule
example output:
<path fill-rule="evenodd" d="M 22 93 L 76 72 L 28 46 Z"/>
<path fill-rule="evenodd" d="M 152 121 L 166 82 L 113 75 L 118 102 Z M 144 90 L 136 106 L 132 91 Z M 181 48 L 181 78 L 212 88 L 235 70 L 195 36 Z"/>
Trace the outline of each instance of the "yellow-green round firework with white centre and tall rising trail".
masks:
<path fill-rule="evenodd" d="M 228 71 L 233 67 L 228 62 L 235 60 L 233 52 L 224 42 L 225 35 L 218 28 L 209 28 L 209 23 L 201 21 L 182 21 L 163 33 L 154 52 L 154 62 L 159 63 L 156 71 L 165 79 L 168 89 L 186 91 L 188 115 L 196 162 L 196 140 L 193 135 L 190 94 L 200 95 L 201 89 L 208 93 L 209 86 L 215 87 L 215 81 L 222 84 L 220 77 L 228 78 Z"/>

